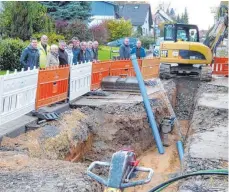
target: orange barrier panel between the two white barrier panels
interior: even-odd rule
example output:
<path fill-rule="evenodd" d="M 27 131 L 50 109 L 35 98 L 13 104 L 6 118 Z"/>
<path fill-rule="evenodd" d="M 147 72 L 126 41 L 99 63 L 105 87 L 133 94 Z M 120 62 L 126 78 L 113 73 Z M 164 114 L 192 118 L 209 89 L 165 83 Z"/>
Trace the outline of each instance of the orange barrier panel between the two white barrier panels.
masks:
<path fill-rule="evenodd" d="M 40 69 L 38 73 L 36 109 L 67 99 L 68 78 L 69 66 Z"/>

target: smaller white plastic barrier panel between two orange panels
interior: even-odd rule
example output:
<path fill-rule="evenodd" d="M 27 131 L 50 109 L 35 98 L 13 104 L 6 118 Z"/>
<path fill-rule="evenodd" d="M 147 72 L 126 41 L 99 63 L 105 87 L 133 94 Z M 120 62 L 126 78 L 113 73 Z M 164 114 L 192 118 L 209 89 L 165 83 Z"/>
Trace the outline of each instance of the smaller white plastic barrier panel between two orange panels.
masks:
<path fill-rule="evenodd" d="M 69 100 L 72 101 L 90 91 L 92 63 L 71 65 Z"/>

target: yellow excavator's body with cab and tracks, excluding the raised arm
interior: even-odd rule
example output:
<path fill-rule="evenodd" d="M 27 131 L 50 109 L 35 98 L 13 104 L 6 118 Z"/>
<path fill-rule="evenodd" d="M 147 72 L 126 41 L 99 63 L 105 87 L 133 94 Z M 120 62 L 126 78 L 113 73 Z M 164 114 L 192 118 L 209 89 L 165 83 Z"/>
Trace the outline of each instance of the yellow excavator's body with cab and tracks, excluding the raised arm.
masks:
<path fill-rule="evenodd" d="M 170 78 L 178 74 L 198 75 L 210 81 L 212 52 L 199 42 L 196 25 L 166 24 L 164 41 L 160 45 L 160 77 Z"/>

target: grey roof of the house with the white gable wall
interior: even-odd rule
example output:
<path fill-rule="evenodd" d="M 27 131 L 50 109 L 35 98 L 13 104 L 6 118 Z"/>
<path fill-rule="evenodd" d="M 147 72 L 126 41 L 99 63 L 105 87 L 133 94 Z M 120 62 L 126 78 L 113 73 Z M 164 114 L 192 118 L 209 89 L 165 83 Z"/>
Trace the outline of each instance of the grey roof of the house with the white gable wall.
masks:
<path fill-rule="evenodd" d="M 130 19 L 132 25 L 139 26 L 144 24 L 148 11 L 149 4 L 124 4 L 119 5 L 118 12 L 120 17 Z M 149 15 L 151 16 L 151 13 Z"/>

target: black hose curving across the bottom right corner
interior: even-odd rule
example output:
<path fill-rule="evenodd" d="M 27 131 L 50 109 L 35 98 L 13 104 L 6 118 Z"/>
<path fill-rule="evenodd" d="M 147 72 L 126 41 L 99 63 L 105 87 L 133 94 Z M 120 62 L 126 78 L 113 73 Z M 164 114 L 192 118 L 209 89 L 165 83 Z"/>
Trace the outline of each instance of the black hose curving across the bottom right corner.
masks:
<path fill-rule="evenodd" d="M 184 178 L 187 178 L 187 177 L 191 177 L 191 176 L 197 176 L 197 175 L 228 175 L 228 172 L 202 172 L 202 173 L 191 173 L 191 174 L 187 174 L 187 175 L 182 175 L 182 176 L 179 176 L 179 177 L 175 177 L 173 179 L 170 179 L 164 183 L 161 183 L 160 185 L 150 189 L 148 192 L 155 192 L 156 190 L 164 187 L 165 185 L 168 185 L 170 183 L 173 183 L 175 181 L 178 181 L 180 179 L 184 179 Z"/>

